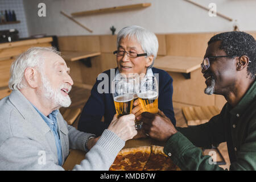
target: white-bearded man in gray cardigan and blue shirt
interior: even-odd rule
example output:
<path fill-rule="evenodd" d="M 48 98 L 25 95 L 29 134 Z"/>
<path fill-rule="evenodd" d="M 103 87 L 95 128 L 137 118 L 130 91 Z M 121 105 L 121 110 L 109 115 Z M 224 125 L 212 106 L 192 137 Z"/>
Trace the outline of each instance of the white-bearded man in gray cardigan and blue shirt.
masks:
<path fill-rule="evenodd" d="M 11 65 L 10 96 L 0 101 L 0 170 L 63 170 L 69 147 L 88 151 L 92 134 L 67 125 L 73 81 L 53 48 L 34 47 Z M 127 139 L 137 135 L 133 114 L 115 116 L 75 170 L 108 170 Z"/>

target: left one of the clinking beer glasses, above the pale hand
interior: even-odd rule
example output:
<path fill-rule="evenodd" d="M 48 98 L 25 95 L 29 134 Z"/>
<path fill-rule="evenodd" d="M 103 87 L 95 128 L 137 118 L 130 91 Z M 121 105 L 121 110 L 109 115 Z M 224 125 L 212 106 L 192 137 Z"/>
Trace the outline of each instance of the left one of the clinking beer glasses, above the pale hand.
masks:
<path fill-rule="evenodd" d="M 130 79 L 121 77 L 119 80 L 114 80 L 112 86 L 114 88 L 115 111 L 118 114 L 118 118 L 122 115 L 131 114 L 134 101 L 133 82 Z"/>

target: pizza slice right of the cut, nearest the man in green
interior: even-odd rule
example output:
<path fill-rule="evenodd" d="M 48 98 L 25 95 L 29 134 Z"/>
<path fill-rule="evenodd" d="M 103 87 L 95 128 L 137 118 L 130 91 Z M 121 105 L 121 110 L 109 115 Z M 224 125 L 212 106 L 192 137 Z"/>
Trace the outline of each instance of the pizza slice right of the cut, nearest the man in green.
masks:
<path fill-rule="evenodd" d="M 151 147 L 150 158 L 144 166 L 143 171 L 174 171 L 175 169 L 176 165 L 164 154 L 163 147 Z"/>

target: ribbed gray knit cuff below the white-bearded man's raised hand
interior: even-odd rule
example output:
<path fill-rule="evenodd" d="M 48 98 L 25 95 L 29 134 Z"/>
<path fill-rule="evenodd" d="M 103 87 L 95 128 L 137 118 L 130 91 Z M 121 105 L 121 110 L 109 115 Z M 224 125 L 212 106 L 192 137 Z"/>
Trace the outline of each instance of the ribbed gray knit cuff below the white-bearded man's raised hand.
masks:
<path fill-rule="evenodd" d="M 125 146 L 125 141 L 119 138 L 115 133 L 106 129 L 98 139 L 96 145 L 101 146 L 114 157 Z"/>

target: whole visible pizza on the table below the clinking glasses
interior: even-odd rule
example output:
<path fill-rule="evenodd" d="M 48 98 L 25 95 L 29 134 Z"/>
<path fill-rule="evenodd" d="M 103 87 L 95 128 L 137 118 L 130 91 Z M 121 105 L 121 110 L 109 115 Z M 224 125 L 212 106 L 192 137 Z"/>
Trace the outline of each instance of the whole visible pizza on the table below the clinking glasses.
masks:
<path fill-rule="evenodd" d="M 162 146 L 142 146 L 121 150 L 110 171 L 174 171 L 176 165 Z"/>

